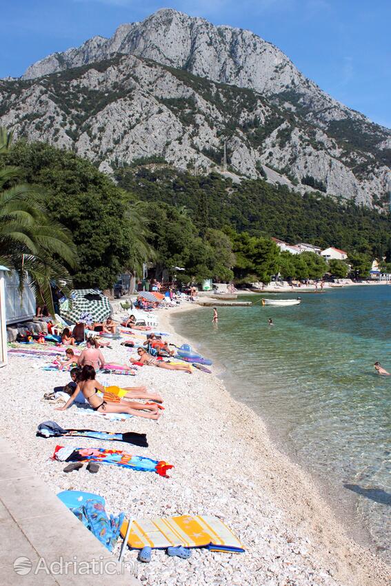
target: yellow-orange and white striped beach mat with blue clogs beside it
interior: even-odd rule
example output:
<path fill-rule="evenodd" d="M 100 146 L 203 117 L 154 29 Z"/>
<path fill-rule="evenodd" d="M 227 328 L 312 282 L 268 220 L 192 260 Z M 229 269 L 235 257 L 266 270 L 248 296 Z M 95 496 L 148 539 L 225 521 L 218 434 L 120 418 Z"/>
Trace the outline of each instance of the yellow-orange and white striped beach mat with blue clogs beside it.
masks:
<path fill-rule="evenodd" d="M 126 535 L 128 521 L 121 526 L 121 535 Z M 232 531 L 210 515 L 181 515 L 177 517 L 155 517 L 136 519 L 132 523 L 128 546 L 142 549 L 149 546 L 157 549 L 167 547 L 206 547 L 214 552 L 241 553 L 243 545 Z"/>

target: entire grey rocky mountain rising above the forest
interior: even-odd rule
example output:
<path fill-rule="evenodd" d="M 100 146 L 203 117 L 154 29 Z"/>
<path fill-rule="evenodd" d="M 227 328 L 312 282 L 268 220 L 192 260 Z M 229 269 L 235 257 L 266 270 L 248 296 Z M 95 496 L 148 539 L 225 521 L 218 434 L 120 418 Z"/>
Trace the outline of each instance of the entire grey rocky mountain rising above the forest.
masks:
<path fill-rule="evenodd" d="M 391 188 L 391 131 L 306 79 L 250 31 L 175 10 L 0 81 L 0 124 L 110 172 L 139 159 L 228 168 L 368 205 Z"/>

